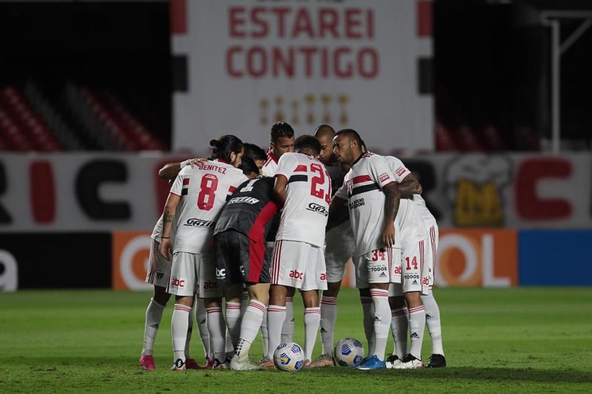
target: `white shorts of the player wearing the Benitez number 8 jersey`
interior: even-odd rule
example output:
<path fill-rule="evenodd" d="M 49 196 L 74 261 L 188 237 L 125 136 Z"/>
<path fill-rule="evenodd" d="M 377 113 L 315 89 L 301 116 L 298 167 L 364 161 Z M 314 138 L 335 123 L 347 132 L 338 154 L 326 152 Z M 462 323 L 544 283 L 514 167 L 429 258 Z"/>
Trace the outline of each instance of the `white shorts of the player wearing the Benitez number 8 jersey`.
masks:
<path fill-rule="evenodd" d="M 200 253 L 173 253 L 166 292 L 181 297 L 222 297 L 223 289 L 216 281 L 214 259 Z"/>

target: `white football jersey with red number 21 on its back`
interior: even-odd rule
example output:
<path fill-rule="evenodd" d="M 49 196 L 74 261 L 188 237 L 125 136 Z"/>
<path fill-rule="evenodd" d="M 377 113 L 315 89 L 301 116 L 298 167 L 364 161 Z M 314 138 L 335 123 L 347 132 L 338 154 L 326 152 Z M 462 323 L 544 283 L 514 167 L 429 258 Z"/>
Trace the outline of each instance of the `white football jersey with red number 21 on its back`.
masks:
<path fill-rule="evenodd" d="M 288 180 L 288 195 L 275 239 L 324 246 L 331 200 L 329 172 L 309 155 L 288 152 L 279 158 L 275 176 L 279 175 Z"/>

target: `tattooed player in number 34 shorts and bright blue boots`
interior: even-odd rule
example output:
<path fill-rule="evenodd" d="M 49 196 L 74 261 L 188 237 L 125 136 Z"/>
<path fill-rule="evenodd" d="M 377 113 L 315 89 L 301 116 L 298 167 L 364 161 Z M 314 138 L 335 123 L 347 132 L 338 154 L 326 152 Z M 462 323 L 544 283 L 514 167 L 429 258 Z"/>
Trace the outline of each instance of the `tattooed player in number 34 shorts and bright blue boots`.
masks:
<path fill-rule="evenodd" d="M 401 281 L 395 271 L 400 262 L 400 237 L 395 237 L 395 217 L 400 192 L 385 159 L 364 153 L 358 132 L 343 129 L 333 138 L 333 154 L 351 168 L 330 207 L 327 229 L 345 221 L 349 210 L 355 251 L 356 286 L 360 289 L 368 357 L 358 369 L 384 369 L 384 353 L 391 325 L 388 287 Z M 372 308 L 364 305 L 371 298 Z M 372 321 L 372 330 L 369 330 Z M 372 334 L 370 335 L 370 331 Z"/>

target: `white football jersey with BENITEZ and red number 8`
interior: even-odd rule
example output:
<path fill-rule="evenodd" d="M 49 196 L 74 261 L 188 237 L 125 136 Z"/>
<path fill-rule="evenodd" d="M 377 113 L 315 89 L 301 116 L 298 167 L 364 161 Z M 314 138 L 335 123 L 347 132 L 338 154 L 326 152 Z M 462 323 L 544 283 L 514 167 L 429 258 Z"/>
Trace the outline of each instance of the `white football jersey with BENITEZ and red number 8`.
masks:
<path fill-rule="evenodd" d="M 246 180 L 243 171 L 222 161 L 184 167 L 170 188 L 170 193 L 181 197 L 173 223 L 173 253 L 208 252 L 226 198 Z"/>

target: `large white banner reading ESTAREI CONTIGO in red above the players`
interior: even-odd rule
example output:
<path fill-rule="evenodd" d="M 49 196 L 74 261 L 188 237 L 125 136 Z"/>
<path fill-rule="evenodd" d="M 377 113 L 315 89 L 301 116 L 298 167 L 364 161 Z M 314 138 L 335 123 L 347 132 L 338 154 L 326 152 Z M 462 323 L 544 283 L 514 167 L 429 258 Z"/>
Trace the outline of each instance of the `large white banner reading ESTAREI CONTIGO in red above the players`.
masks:
<path fill-rule="evenodd" d="M 269 144 L 322 123 L 375 149 L 433 150 L 431 2 L 172 2 L 173 148 L 211 133 Z"/>

